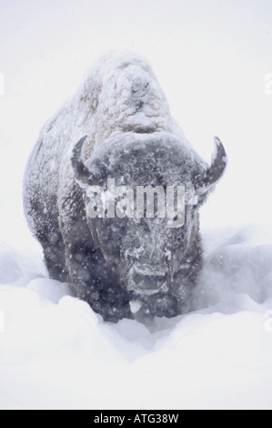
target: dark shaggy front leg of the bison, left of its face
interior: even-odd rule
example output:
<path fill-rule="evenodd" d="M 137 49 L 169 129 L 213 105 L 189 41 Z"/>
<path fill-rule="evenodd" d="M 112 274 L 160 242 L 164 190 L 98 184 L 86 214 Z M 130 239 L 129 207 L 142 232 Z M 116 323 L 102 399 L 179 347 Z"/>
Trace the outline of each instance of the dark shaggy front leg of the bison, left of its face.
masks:
<path fill-rule="evenodd" d="M 74 295 L 87 301 L 105 321 L 132 318 L 130 296 L 96 248 L 86 221 L 61 223 L 65 256 Z"/>

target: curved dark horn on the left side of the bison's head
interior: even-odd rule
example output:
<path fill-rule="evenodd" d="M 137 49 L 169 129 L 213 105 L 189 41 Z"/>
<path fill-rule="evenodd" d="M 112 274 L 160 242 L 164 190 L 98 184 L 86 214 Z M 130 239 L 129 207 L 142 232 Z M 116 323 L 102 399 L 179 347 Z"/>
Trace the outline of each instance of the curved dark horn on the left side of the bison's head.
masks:
<path fill-rule="evenodd" d="M 74 177 L 76 178 L 76 182 L 83 189 L 92 185 L 91 174 L 88 168 L 86 168 L 85 166 L 82 149 L 86 138 L 87 135 L 80 138 L 80 140 L 76 143 L 76 146 L 72 149 L 72 152 L 70 154 L 70 164 Z"/>

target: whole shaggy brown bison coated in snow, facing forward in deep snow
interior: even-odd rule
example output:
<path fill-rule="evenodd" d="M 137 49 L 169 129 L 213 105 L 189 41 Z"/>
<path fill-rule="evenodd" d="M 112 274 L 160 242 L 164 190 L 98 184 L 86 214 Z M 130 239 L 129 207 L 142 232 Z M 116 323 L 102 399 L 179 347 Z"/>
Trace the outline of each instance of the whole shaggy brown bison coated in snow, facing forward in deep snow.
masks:
<path fill-rule="evenodd" d="M 124 52 L 103 57 L 45 124 L 25 170 L 25 216 L 50 277 L 69 281 L 106 321 L 188 311 L 202 263 L 198 208 L 226 165 L 216 143 L 208 168 L 171 117 L 146 60 Z M 90 219 L 86 186 L 105 186 L 109 177 L 116 186 L 184 185 L 185 225 Z"/>

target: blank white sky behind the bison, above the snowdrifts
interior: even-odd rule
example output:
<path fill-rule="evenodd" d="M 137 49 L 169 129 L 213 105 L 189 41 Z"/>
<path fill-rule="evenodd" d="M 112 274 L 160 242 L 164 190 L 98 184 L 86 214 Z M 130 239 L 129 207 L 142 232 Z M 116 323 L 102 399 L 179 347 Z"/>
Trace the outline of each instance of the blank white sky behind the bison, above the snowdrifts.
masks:
<path fill-rule="evenodd" d="M 0 209 L 21 207 L 45 120 L 99 56 L 124 47 L 150 61 L 199 154 L 209 160 L 213 135 L 227 149 L 203 226 L 271 223 L 271 0 L 0 0 Z"/>

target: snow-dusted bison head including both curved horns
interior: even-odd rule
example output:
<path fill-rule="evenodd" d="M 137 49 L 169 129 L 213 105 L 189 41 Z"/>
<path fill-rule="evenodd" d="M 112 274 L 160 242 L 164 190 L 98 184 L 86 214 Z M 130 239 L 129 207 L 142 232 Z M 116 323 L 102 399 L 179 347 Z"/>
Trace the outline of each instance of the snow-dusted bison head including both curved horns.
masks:
<path fill-rule="evenodd" d="M 190 263 L 198 208 L 226 165 L 222 144 L 217 140 L 214 163 L 207 168 L 192 148 L 162 132 L 117 135 L 83 161 L 85 138 L 73 149 L 71 163 L 85 189 L 93 238 L 125 290 L 137 296 L 166 293 Z M 146 189 L 154 190 L 153 213 Z M 172 211 L 167 189 L 173 191 Z"/>

